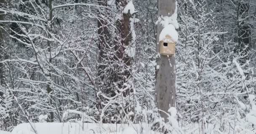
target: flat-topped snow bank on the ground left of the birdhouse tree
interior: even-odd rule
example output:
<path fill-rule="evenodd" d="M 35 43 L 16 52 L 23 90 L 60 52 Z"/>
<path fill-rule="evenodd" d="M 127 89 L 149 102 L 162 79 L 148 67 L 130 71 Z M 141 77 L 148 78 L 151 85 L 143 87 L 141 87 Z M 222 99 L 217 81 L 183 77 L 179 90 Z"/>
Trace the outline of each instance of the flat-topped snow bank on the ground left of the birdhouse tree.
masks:
<path fill-rule="evenodd" d="M 151 131 L 150 124 L 33 123 L 33 127 L 37 134 L 158 134 Z M 11 134 L 35 132 L 30 124 L 24 123 L 16 126 Z"/>

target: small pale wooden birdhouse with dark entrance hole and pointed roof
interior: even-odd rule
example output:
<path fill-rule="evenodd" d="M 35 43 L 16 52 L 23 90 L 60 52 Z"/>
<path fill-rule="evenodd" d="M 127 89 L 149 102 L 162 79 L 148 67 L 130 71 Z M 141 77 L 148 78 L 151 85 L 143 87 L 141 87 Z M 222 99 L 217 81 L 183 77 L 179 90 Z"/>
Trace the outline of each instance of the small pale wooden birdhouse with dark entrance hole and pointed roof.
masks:
<path fill-rule="evenodd" d="M 171 36 L 166 35 L 164 39 L 160 41 L 160 54 L 161 55 L 174 55 L 175 54 L 175 41 Z"/>

